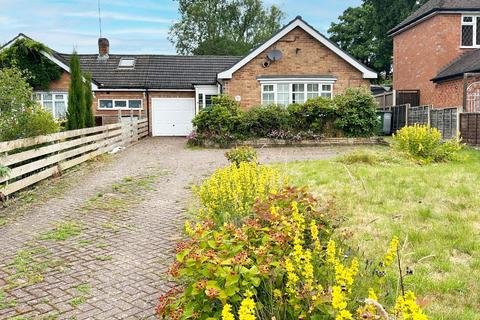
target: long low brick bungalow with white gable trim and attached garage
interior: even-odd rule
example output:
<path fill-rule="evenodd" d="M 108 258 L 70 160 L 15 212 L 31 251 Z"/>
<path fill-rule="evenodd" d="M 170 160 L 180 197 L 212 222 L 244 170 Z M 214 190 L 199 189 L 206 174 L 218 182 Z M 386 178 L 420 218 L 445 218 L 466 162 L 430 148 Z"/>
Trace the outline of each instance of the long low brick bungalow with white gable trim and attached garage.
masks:
<path fill-rule="evenodd" d="M 93 76 L 97 123 L 116 122 L 119 115 L 148 117 L 153 136 L 189 134 L 195 114 L 218 94 L 229 95 L 244 108 L 288 105 L 333 97 L 349 87 L 368 89 L 370 79 L 377 77 L 301 17 L 245 57 L 117 55 L 110 54 L 107 39 L 98 43 L 98 54 L 79 55 L 82 71 Z M 44 54 L 64 73 L 49 90 L 37 92 L 36 99 L 61 116 L 71 55 L 53 50 Z"/>

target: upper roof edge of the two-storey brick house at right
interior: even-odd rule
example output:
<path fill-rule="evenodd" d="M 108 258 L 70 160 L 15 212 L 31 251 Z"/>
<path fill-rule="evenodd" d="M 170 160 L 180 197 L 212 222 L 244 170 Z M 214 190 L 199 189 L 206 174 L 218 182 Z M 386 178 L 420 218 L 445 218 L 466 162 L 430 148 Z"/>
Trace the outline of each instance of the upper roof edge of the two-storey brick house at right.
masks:
<path fill-rule="evenodd" d="M 426 16 L 445 11 L 480 11 L 479 0 L 430 0 L 388 33 L 393 35 Z"/>

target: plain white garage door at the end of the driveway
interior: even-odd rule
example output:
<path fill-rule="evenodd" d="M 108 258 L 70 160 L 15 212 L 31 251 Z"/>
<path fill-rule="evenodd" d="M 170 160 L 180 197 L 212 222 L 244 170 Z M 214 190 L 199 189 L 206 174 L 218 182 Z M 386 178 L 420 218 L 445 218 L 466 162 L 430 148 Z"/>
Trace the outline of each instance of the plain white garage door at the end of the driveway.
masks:
<path fill-rule="evenodd" d="M 152 135 L 188 136 L 195 117 L 194 98 L 153 98 Z"/>

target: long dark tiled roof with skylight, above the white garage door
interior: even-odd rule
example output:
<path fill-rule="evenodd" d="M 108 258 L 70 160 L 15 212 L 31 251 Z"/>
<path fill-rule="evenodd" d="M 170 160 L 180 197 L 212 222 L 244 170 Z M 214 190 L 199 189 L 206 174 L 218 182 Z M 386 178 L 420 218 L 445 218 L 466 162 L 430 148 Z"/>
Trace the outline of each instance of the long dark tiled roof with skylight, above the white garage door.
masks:
<path fill-rule="evenodd" d="M 67 64 L 70 54 L 58 54 Z M 99 88 L 193 89 L 197 84 L 216 84 L 217 73 L 228 69 L 240 57 L 80 54 L 80 67 L 90 72 Z M 132 69 L 118 68 L 122 58 L 134 58 Z"/>

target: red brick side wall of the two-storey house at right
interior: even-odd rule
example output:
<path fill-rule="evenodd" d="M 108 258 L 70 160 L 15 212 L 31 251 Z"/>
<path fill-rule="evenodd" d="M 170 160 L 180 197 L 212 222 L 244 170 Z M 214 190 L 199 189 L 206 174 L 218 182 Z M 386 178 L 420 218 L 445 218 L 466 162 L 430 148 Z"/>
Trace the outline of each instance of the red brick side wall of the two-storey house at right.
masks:
<path fill-rule="evenodd" d="M 460 14 L 438 14 L 396 35 L 393 38 L 394 89 L 419 89 L 421 104 L 458 105 L 459 98 L 450 94 L 457 92 L 455 84 L 436 85 L 430 80 L 442 67 L 471 50 L 460 48 L 460 37 Z"/>

